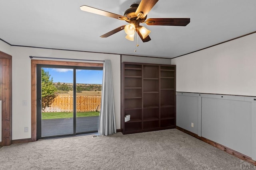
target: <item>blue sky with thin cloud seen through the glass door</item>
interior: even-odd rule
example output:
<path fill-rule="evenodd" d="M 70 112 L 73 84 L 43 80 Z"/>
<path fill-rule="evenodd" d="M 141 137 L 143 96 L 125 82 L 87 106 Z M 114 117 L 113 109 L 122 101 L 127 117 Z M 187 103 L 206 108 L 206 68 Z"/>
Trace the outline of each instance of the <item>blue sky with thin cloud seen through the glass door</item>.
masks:
<path fill-rule="evenodd" d="M 44 68 L 48 71 L 53 82 L 73 83 L 73 69 Z M 76 70 L 76 83 L 102 84 L 102 70 Z"/>

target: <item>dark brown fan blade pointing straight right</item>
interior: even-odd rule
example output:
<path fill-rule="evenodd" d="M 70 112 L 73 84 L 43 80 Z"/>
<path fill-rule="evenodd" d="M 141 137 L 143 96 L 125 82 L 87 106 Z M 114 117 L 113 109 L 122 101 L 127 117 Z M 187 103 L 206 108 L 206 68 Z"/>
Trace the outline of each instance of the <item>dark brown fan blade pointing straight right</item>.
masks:
<path fill-rule="evenodd" d="M 190 18 L 149 18 L 146 20 L 148 25 L 186 26 L 188 23 L 190 23 Z"/>

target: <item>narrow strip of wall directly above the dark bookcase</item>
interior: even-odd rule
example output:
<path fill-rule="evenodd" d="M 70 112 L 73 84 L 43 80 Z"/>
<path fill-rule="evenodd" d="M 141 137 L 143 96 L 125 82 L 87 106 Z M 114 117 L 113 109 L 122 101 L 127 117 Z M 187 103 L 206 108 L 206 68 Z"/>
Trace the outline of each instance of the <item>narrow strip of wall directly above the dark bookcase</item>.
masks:
<path fill-rule="evenodd" d="M 171 59 L 122 55 L 122 62 L 171 64 Z"/>

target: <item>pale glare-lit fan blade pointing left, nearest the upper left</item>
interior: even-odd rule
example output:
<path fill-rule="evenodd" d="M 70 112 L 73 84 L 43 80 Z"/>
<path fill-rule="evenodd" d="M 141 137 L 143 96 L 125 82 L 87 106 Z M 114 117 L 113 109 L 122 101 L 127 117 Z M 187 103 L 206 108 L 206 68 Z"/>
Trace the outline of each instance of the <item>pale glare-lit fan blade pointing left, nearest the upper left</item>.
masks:
<path fill-rule="evenodd" d="M 80 6 L 80 9 L 82 11 L 90 12 L 90 13 L 93 13 L 93 14 L 112 17 L 112 18 L 116 18 L 116 19 L 119 19 L 119 20 L 127 20 L 127 17 L 125 17 L 125 16 L 120 16 L 118 14 L 114 14 L 114 13 L 111 13 L 111 12 L 99 10 L 97 8 L 92 8 L 92 7 L 86 6 L 86 5 Z"/>

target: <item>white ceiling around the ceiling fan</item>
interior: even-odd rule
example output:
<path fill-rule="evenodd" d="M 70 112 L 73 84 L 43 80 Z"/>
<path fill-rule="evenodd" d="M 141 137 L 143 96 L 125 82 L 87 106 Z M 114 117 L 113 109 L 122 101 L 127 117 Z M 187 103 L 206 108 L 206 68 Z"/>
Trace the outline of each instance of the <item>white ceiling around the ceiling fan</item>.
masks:
<path fill-rule="evenodd" d="M 186 27 L 144 25 L 151 41 L 139 47 L 120 31 L 126 21 L 80 10 L 86 5 L 114 14 L 139 0 L 0 0 L 0 39 L 11 45 L 173 58 L 256 31 L 256 0 L 159 0 L 147 18 L 190 18 Z M 136 49 L 136 52 L 134 50 Z"/>

